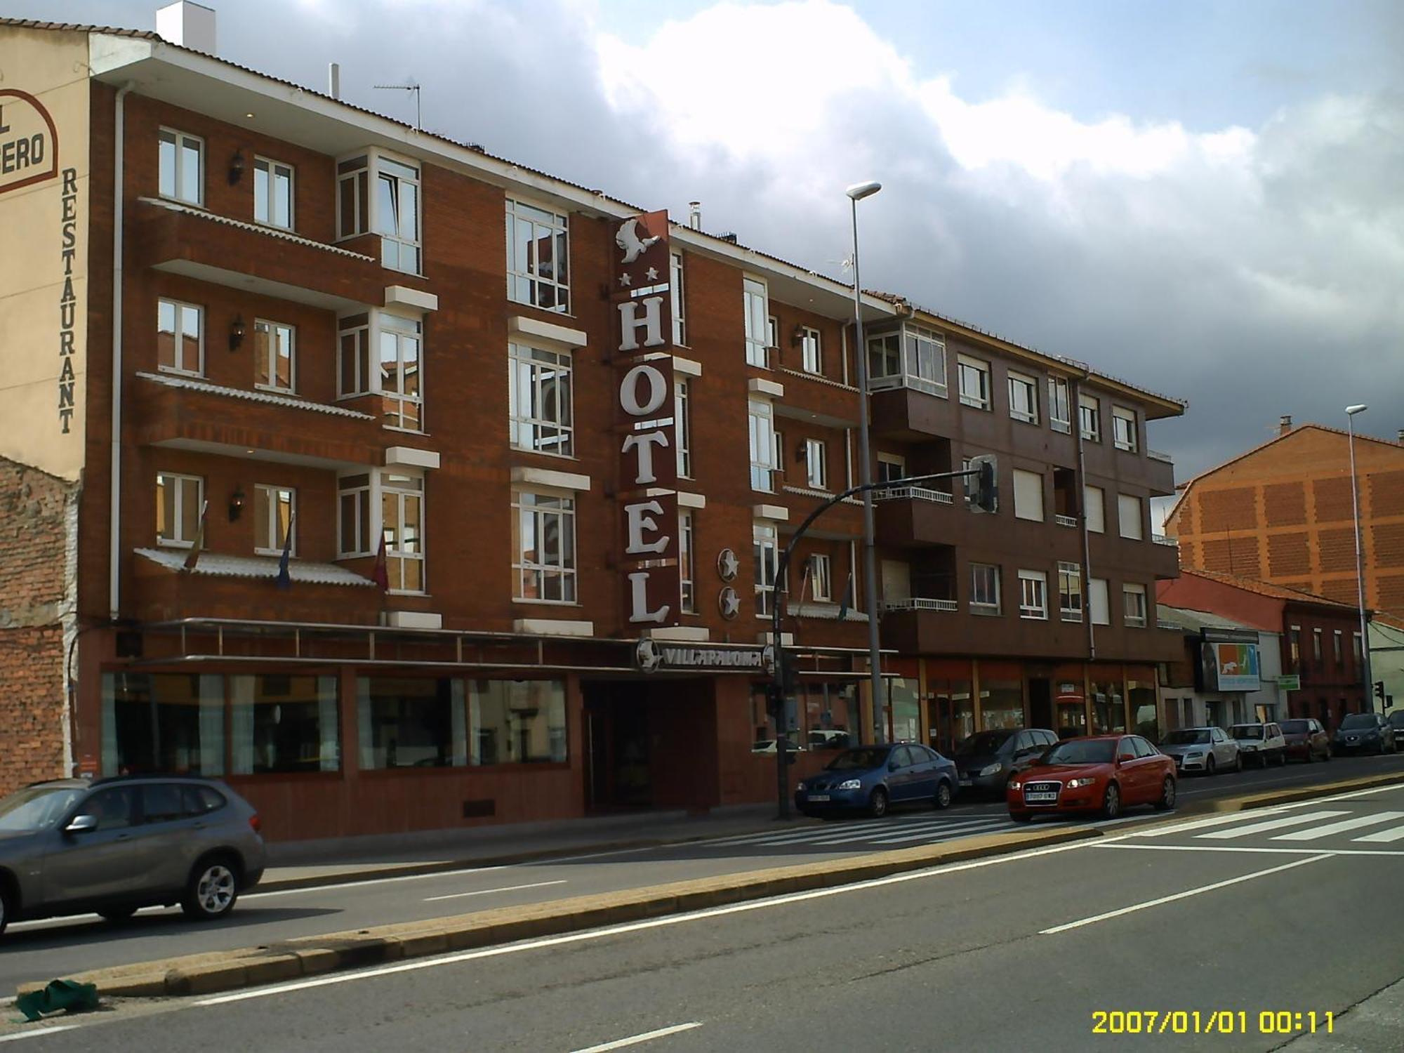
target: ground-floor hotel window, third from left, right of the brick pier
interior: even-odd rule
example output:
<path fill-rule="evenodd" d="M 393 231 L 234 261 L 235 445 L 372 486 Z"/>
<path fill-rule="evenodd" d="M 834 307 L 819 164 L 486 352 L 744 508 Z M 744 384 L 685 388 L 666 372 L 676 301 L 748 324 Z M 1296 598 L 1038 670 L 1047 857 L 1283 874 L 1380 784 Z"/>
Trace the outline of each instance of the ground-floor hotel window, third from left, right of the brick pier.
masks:
<path fill-rule="evenodd" d="M 468 764 L 461 680 L 358 677 L 357 712 L 365 769 Z"/>

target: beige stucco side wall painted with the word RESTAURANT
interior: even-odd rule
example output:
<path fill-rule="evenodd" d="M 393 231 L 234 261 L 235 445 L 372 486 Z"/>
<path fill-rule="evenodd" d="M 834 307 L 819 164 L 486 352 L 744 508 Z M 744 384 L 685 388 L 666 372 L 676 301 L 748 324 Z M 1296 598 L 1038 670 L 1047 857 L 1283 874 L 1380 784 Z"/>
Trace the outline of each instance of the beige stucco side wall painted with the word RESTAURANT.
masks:
<path fill-rule="evenodd" d="M 0 458 L 63 479 L 83 469 L 87 56 L 81 32 L 0 28 Z M 44 163 L 24 164 L 35 136 Z"/>

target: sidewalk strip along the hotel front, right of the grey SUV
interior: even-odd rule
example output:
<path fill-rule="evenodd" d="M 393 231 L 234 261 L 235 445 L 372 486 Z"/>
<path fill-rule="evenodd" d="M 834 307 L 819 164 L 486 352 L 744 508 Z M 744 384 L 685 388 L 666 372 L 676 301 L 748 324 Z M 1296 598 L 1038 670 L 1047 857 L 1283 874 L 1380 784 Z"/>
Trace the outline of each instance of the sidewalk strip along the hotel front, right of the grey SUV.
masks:
<path fill-rule="evenodd" d="M 813 823 L 816 820 L 797 816 L 785 828 Z M 713 809 L 706 816 L 689 816 L 681 810 L 639 812 L 552 823 L 282 841 L 268 845 L 268 869 L 258 892 L 647 848 L 761 833 L 778 826 L 775 804 L 739 804 Z"/>

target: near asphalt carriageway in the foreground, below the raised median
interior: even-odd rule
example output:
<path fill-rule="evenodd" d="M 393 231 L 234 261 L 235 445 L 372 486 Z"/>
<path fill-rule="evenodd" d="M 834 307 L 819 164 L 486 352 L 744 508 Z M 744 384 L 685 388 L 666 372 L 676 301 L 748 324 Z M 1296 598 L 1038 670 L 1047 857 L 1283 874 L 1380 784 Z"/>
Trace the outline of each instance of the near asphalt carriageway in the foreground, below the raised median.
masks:
<path fill-rule="evenodd" d="M 56 1022 L 72 1029 L 29 1045 L 163 1053 L 226 1036 L 309 1053 L 1268 1050 L 1293 1038 L 1278 1026 L 1294 1026 L 1296 1014 L 1310 1026 L 1314 1012 L 1324 1031 L 1330 1012 L 1330 1026 L 1351 1032 L 1352 1007 L 1377 1002 L 1404 976 L 1401 880 L 1404 788 L 1384 788 L 121 1007 Z M 1150 1022 L 1154 1038 L 1098 1035 L 1098 1014 L 1109 1029 Z M 1303 1045 L 1331 1047 L 1317 1039 Z M 1393 1052 L 1398 1035 L 1360 1031 L 1348 1047 Z"/>

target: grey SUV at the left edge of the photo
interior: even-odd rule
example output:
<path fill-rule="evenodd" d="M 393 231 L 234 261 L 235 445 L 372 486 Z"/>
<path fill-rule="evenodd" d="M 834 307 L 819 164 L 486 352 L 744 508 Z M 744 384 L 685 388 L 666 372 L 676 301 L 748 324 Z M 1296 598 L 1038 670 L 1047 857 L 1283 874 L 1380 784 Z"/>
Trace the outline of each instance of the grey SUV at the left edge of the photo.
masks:
<path fill-rule="evenodd" d="M 55 779 L 0 799 L 0 932 L 10 921 L 177 903 L 219 918 L 263 878 L 258 813 L 198 778 Z"/>

